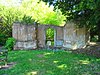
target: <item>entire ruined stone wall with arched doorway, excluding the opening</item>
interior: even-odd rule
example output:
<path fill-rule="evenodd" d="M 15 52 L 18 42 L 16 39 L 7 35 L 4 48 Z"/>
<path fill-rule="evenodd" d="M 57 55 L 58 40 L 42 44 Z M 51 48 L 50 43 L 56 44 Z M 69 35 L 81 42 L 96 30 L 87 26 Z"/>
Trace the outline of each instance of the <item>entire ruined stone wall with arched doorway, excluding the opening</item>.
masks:
<path fill-rule="evenodd" d="M 87 29 L 77 28 L 74 22 L 67 22 L 64 26 L 14 23 L 12 32 L 16 39 L 14 50 L 46 48 L 46 29 L 48 28 L 55 30 L 54 47 L 56 48 L 84 48 L 89 42 Z"/>

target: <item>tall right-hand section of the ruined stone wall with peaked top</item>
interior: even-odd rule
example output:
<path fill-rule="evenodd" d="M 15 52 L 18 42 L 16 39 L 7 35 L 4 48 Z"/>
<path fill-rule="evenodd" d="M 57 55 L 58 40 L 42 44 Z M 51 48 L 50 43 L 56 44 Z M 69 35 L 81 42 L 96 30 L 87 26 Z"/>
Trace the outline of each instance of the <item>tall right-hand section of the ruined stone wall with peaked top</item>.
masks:
<path fill-rule="evenodd" d="M 74 22 L 68 22 L 64 27 L 63 46 L 71 49 L 84 48 L 88 37 L 85 27 L 77 28 Z"/>

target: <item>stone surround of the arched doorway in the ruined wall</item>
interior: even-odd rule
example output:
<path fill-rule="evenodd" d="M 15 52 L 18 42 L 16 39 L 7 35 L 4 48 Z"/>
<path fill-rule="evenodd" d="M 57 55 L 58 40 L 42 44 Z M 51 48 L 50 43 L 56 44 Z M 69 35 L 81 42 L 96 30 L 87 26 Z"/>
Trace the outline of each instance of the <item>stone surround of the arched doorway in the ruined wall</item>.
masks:
<path fill-rule="evenodd" d="M 56 26 L 51 26 L 51 25 L 39 25 L 38 26 L 38 45 L 39 47 L 41 48 L 46 48 L 46 30 L 47 29 L 53 29 L 54 30 L 54 45 L 53 46 L 56 46 L 56 40 L 57 40 L 57 27 Z"/>

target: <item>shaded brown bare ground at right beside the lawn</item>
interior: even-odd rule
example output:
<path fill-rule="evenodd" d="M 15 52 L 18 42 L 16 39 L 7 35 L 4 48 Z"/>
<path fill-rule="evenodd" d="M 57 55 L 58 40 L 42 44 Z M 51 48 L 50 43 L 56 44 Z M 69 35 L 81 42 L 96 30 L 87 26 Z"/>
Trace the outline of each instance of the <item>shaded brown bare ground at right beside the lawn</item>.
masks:
<path fill-rule="evenodd" d="M 76 49 L 72 51 L 73 53 L 81 53 L 86 55 L 95 56 L 97 58 L 100 58 L 100 43 L 94 43 L 88 45 L 86 48 L 82 49 Z"/>

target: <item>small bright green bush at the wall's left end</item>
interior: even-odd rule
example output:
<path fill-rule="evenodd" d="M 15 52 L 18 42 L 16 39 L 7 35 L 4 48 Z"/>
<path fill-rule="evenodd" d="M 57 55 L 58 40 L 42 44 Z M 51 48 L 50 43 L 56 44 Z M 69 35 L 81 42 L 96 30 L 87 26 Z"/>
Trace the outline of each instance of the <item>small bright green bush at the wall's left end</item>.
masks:
<path fill-rule="evenodd" d="M 8 38 L 5 44 L 5 48 L 9 51 L 13 50 L 13 46 L 15 44 L 16 40 L 14 38 Z"/>

